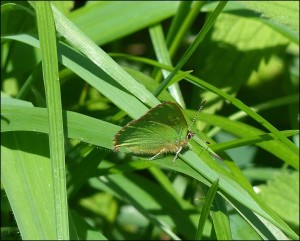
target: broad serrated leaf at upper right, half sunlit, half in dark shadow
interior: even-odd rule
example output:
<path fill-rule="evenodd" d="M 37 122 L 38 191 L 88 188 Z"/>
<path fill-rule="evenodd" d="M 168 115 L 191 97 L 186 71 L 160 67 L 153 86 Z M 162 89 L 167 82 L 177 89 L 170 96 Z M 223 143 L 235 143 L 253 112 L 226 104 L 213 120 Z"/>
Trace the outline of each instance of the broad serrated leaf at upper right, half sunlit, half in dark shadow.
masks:
<path fill-rule="evenodd" d="M 223 91 L 235 95 L 252 72 L 258 70 L 261 61 L 268 61 L 272 55 L 285 51 L 288 44 L 287 38 L 257 19 L 222 14 L 214 25 L 211 38 L 206 38 L 199 47 L 191 68 L 195 69 L 194 75 L 199 74 Z M 206 57 L 202 58 L 203 55 Z M 209 91 L 201 97 L 208 102 L 220 100 Z M 213 113 L 222 103 L 217 102 L 206 110 Z"/>

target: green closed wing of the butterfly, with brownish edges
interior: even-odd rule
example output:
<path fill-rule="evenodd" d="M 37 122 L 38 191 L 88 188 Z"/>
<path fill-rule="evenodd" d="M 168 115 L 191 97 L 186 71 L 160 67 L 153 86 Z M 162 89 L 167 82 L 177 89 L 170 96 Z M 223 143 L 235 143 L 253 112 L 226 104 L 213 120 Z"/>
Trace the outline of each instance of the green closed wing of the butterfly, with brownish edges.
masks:
<path fill-rule="evenodd" d="M 167 101 L 123 127 L 115 136 L 115 150 L 125 148 L 136 154 L 176 152 L 186 143 L 187 132 L 180 106 Z"/>

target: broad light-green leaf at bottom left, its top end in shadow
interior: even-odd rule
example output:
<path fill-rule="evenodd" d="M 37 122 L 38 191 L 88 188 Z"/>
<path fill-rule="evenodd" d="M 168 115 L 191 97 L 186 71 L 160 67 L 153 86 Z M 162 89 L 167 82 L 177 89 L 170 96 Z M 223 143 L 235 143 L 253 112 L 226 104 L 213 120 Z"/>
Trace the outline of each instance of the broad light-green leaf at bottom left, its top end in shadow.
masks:
<path fill-rule="evenodd" d="M 22 239 L 55 239 L 48 137 L 34 132 L 6 132 L 1 133 L 1 140 L 1 182 Z"/>

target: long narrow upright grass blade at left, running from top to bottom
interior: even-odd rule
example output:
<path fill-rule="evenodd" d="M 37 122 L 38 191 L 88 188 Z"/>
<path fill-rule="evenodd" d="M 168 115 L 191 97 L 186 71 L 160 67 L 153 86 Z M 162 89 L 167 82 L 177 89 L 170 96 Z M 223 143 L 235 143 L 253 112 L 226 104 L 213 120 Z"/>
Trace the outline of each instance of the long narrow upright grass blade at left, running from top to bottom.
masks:
<path fill-rule="evenodd" d="M 49 147 L 55 202 L 56 239 L 69 239 L 65 148 L 58 74 L 56 30 L 50 2 L 35 3 L 49 117 Z"/>

